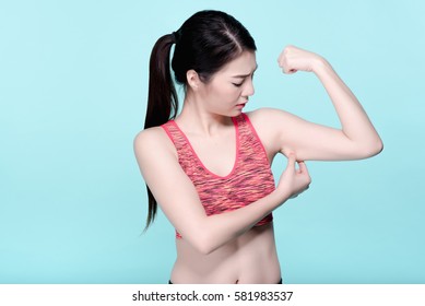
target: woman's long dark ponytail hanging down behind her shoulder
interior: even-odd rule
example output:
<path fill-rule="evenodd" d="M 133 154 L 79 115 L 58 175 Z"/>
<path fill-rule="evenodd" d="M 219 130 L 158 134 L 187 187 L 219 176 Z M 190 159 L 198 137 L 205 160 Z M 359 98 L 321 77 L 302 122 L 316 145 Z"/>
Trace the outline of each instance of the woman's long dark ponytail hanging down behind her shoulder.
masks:
<path fill-rule="evenodd" d="M 149 72 L 147 109 L 144 128 L 158 127 L 174 119 L 178 110 L 178 97 L 169 69 L 169 54 L 176 36 L 173 34 L 161 37 L 152 49 Z M 146 185 L 149 212 L 146 227 L 156 216 L 157 203 Z"/>

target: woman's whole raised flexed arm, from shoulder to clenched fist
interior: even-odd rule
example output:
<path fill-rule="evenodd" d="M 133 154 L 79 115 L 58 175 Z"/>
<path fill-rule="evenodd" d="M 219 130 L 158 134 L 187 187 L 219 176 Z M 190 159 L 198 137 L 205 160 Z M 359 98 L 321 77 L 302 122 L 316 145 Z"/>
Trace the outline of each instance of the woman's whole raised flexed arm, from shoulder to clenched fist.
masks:
<path fill-rule="evenodd" d="M 280 55 L 284 73 L 314 72 L 323 84 L 337 110 L 341 129 L 308 122 L 276 109 L 263 110 L 276 151 L 295 152 L 298 161 L 359 160 L 378 154 L 382 141 L 355 95 L 322 57 L 287 46 Z"/>

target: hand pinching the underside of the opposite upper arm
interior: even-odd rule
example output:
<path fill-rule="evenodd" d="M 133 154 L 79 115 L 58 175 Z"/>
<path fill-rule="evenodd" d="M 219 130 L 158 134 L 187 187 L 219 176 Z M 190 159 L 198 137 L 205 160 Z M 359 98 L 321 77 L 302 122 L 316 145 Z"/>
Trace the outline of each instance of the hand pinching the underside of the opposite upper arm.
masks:
<path fill-rule="evenodd" d="M 297 162 L 298 169 L 295 167 L 295 154 L 287 156 L 286 169 L 282 173 L 276 190 L 281 190 L 285 199 L 295 198 L 308 189 L 311 178 L 304 162 Z"/>

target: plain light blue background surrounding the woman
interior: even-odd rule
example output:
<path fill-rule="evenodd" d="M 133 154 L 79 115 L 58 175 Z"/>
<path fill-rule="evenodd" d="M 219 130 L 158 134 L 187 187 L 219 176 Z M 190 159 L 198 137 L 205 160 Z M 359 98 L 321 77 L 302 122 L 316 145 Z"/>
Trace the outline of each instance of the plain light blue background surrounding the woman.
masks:
<path fill-rule="evenodd" d="M 1 1 L 0 283 L 165 283 L 174 229 L 132 151 L 155 40 L 201 9 L 256 38 L 249 109 L 338 126 L 312 74 L 283 75 L 294 44 L 356 93 L 383 152 L 310 162 L 308 192 L 275 212 L 286 283 L 425 283 L 425 7 L 422 1 Z M 249 110 L 248 109 L 248 110 Z M 278 158 L 279 175 L 285 164 Z"/>

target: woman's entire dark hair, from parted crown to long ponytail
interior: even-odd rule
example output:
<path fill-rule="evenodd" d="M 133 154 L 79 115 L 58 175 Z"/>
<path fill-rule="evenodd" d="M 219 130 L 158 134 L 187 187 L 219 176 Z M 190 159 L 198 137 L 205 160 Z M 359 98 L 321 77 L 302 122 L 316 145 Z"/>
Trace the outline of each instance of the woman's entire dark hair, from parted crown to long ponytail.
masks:
<path fill-rule="evenodd" d="M 144 128 L 161 126 L 177 115 L 178 97 L 170 66 L 176 83 L 186 89 L 188 70 L 193 69 L 201 81 L 208 83 L 215 72 L 245 50 L 257 50 L 252 36 L 240 22 L 220 11 L 200 11 L 178 31 L 162 36 L 151 54 Z M 150 188 L 146 188 L 149 214 L 145 229 L 154 221 L 157 210 L 156 200 Z"/>

